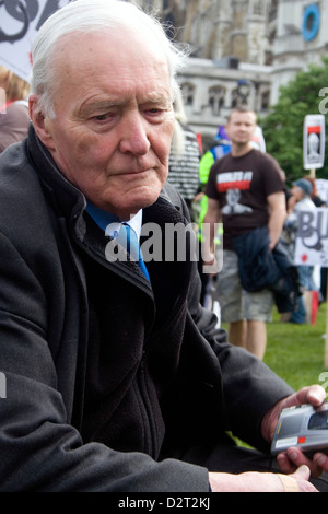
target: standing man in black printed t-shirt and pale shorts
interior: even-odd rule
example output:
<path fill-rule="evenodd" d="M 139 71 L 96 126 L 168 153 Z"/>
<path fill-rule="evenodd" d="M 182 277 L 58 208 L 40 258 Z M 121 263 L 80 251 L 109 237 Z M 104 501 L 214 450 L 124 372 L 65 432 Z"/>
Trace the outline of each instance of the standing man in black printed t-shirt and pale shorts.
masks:
<path fill-rule="evenodd" d="M 267 289 L 246 292 L 242 288 L 233 238 L 268 226 L 269 249 L 272 250 L 285 219 L 285 197 L 278 162 L 251 144 L 256 126 L 253 110 L 241 107 L 231 113 L 226 133 L 232 150 L 211 168 L 206 188 L 209 206 L 204 222 L 210 224 L 212 252 L 214 224 L 223 222 L 223 268 L 216 283 L 221 318 L 230 324 L 230 341 L 262 359 L 267 343 L 266 322 L 271 319 L 273 297 Z"/>

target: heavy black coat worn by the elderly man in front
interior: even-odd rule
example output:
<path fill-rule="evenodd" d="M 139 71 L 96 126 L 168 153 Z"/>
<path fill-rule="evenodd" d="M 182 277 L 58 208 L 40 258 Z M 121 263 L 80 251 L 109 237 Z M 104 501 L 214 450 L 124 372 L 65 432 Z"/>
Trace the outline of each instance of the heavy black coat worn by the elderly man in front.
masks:
<path fill-rule="evenodd" d="M 84 208 L 33 129 L 1 156 L 0 490 L 207 491 L 207 470 L 159 462 L 163 447 L 223 430 L 261 445 L 263 413 L 291 389 L 214 328 L 197 262 L 150 262 L 150 285 L 134 262 L 104 259 Z M 185 223 L 184 209 L 167 188 L 144 222 Z M 108 332 L 94 351 L 97 295 Z"/>

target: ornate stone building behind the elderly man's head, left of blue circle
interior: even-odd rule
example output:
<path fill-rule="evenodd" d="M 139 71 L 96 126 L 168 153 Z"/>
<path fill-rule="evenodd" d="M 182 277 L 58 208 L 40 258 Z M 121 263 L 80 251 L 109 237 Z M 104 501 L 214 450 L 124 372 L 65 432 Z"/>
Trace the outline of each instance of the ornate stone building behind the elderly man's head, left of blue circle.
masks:
<path fill-rule="evenodd" d="M 278 0 L 127 0 L 173 26 L 190 49 L 179 73 L 190 127 L 212 141 L 231 108 L 247 103 L 258 115 L 270 100 L 271 8 Z M 270 13 L 270 16 L 269 16 Z"/>

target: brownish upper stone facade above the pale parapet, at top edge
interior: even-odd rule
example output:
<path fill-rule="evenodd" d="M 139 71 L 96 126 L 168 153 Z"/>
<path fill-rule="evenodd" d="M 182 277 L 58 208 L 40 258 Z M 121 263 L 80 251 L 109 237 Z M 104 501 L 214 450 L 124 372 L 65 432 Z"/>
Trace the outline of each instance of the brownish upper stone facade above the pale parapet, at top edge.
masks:
<path fill-rule="evenodd" d="M 268 14 L 272 0 L 132 0 L 154 9 L 169 21 L 176 39 L 191 47 L 192 56 L 266 63 Z"/>

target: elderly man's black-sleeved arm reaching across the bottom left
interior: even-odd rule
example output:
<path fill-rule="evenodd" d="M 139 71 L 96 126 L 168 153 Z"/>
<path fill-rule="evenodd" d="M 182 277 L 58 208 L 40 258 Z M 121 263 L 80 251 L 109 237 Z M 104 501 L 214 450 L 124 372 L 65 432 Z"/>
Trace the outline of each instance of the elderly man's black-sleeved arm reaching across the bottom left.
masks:
<path fill-rule="evenodd" d="M 45 253 L 35 262 L 26 260 L 0 232 L 0 370 L 7 385 L 0 398 L 0 491 L 208 491 L 204 468 L 83 442 L 71 424 L 67 388 L 56 367 L 65 351 L 62 366 L 73 376 L 78 340 L 61 341 L 57 354 L 48 344 L 50 271 Z M 59 282 L 60 273 L 48 285 L 58 302 Z"/>

